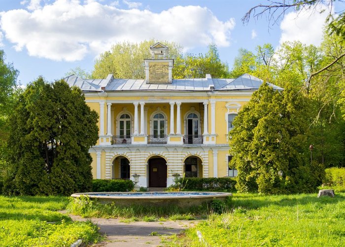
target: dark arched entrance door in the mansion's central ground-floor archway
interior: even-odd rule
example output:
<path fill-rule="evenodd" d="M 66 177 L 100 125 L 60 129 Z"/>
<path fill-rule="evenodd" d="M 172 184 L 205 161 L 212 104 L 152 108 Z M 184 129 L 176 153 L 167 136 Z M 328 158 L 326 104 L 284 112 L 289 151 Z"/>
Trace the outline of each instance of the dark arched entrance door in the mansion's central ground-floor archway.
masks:
<path fill-rule="evenodd" d="M 167 162 L 163 158 L 148 161 L 148 186 L 167 187 Z"/>

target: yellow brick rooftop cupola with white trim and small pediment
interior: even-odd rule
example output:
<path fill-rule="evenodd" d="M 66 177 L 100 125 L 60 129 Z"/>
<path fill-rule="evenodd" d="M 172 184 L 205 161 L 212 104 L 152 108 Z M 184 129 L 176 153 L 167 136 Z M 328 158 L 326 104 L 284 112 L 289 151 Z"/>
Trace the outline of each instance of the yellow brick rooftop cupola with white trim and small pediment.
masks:
<path fill-rule="evenodd" d="M 160 42 L 150 46 L 151 59 L 145 61 L 146 83 L 172 83 L 173 82 L 173 59 L 167 59 L 168 46 Z"/>

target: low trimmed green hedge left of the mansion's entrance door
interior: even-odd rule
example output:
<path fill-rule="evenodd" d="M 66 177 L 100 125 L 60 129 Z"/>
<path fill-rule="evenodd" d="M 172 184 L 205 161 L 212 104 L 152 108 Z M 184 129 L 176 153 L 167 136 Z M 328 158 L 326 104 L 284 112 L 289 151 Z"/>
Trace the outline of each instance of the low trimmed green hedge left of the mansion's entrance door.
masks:
<path fill-rule="evenodd" d="M 126 192 L 133 189 L 134 183 L 129 179 L 94 179 L 92 181 L 93 192 Z"/>

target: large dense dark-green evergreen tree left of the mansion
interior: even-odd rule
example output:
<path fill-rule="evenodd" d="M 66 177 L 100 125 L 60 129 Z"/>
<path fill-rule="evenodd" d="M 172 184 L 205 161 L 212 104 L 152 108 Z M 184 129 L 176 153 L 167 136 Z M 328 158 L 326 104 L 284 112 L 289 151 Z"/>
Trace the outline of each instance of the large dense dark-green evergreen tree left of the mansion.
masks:
<path fill-rule="evenodd" d="M 38 78 L 19 97 L 10 118 L 12 173 L 8 194 L 70 195 L 91 188 L 89 148 L 98 140 L 98 116 L 79 88 Z"/>

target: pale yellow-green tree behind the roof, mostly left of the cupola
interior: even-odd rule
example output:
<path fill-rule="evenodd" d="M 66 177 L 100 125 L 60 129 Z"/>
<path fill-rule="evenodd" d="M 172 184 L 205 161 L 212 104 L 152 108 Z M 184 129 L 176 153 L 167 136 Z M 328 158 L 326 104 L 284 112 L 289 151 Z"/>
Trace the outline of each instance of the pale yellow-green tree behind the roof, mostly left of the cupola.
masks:
<path fill-rule="evenodd" d="M 140 43 L 122 42 L 111 46 L 96 60 L 92 78 L 106 78 L 113 74 L 114 78 L 144 79 L 144 59 L 151 58 L 150 45 L 157 41 L 149 40 Z M 182 47 L 174 42 L 162 41 L 169 47 L 169 57 L 180 55 Z"/>

